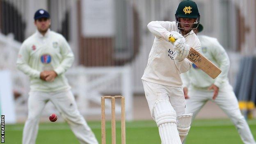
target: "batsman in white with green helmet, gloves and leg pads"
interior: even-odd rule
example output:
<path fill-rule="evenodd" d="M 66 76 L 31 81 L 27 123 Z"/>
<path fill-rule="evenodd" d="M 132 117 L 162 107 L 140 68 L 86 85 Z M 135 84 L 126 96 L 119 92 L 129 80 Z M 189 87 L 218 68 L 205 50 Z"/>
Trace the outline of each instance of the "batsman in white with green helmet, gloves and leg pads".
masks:
<path fill-rule="evenodd" d="M 148 24 L 155 39 L 142 76 L 146 100 L 162 144 L 181 144 L 190 129 L 192 114 L 184 114 L 180 74 L 191 67 L 192 63 L 186 59 L 190 47 L 197 51 L 200 48 L 200 41 L 193 32 L 200 20 L 197 4 L 190 0 L 180 2 L 175 18 L 173 22 Z M 170 36 L 176 39 L 174 43 L 169 42 Z"/>

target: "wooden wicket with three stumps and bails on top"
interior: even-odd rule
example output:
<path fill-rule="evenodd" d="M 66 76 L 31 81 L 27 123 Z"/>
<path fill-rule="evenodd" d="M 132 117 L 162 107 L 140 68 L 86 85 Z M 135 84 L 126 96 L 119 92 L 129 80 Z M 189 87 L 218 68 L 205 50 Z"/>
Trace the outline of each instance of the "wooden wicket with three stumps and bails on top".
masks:
<path fill-rule="evenodd" d="M 125 98 L 124 98 L 124 96 L 102 96 L 101 97 L 101 144 L 106 144 L 105 98 L 111 99 L 112 144 L 116 144 L 116 114 L 115 114 L 116 102 L 115 102 L 115 99 L 121 98 L 121 144 L 126 144 Z"/>

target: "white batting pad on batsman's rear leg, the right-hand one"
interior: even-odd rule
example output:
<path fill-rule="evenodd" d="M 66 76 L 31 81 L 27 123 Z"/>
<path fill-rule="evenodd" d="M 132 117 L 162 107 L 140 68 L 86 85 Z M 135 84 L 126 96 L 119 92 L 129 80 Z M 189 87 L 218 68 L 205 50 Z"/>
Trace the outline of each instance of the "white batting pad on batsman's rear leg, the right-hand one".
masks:
<path fill-rule="evenodd" d="M 187 136 L 192 121 L 193 114 L 182 114 L 177 117 L 177 129 L 181 138 L 181 142 Z"/>

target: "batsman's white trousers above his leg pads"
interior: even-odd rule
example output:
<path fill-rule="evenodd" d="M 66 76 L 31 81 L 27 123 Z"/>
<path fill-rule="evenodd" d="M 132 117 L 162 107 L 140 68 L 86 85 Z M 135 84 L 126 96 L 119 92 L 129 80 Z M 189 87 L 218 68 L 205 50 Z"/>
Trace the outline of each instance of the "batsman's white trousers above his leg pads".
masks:
<path fill-rule="evenodd" d="M 167 99 L 170 101 L 172 107 L 176 111 L 177 117 L 185 113 L 185 98 L 182 87 L 170 87 L 166 85 L 159 85 L 152 82 L 142 80 L 146 100 L 149 104 L 151 116 L 154 119 L 153 107 L 155 102 L 159 99 Z"/>

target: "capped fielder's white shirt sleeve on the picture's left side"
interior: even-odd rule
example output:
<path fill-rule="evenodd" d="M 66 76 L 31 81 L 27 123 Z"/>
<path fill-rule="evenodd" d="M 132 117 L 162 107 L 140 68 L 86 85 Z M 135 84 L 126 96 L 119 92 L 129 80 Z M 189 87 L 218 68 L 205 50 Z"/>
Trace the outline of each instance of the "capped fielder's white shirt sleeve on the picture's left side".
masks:
<path fill-rule="evenodd" d="M 40 71 L 37 71 L 36 69 L 32 69 L 28 61 L 30 59 L 30 53 L 27 50 L 25 44 L 23 43 L 21 45 L 21 49 L 18 53 L 18 58 L 16 61 L 17 69 L 25 73 L 26 75 L 30 76 L 31 78 L 40 78 Z"/>

